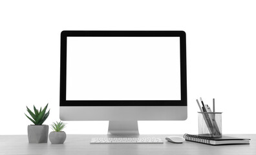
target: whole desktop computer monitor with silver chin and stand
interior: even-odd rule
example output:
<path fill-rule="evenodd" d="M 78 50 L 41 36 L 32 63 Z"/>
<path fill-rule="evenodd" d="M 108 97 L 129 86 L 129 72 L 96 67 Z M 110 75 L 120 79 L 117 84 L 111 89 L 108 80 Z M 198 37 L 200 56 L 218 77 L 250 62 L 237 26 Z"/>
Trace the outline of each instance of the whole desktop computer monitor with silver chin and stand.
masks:
<path fill-rule="evenodd" d="M 138 120 L 187 118 L 184 31 L 63 31 L 60 71 L 63 121 L 139 134 Z"/>

